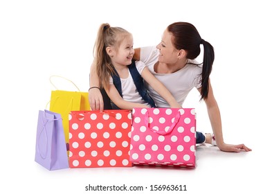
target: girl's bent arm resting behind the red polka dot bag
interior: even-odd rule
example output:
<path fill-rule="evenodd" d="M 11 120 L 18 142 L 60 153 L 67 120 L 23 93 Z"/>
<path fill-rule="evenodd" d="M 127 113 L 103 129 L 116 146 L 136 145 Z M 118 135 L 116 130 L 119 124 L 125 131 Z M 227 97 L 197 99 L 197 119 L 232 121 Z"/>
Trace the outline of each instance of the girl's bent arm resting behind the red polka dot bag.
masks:
<path fill-rule="evenodd" d="M 113 101 L 114 104 L 118 106 L 120 109 L 132 110 L 134 107 L 148 107 L 147 105 L 142 105 L 140 103 L 131 103 L 129 101 L 124 100 L 120 96 L 118 90 L 114 85 L 109 85 L 109 89 L 105 89 L 105 91 L 107 92 L 109 98 L 111 98 L 111 101 Z"/>

